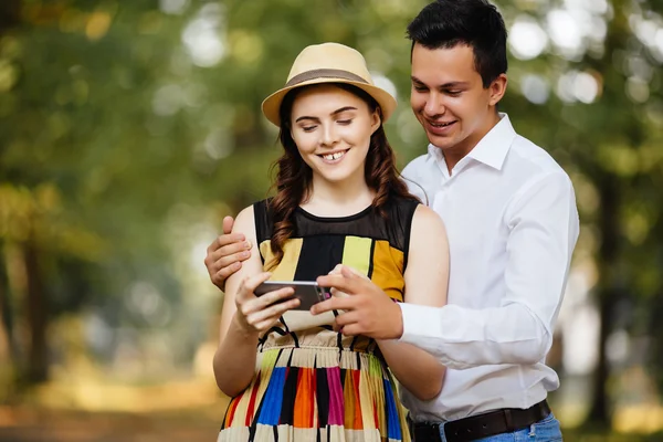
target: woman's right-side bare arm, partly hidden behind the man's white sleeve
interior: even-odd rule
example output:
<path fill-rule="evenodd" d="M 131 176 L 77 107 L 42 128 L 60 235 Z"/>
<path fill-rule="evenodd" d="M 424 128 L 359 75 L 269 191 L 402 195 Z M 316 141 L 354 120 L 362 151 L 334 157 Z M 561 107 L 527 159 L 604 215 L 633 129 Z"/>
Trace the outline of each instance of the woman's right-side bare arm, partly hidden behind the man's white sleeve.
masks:
<path fill-rule="evenodd" d="M 446 304 L 449 242 L 440 217 L 419 206 L 412 220 L 404 301 L 441 307 Z M 396 340 L 378 340 L 389 368 L 419 400 L 430 400 L 442 390 L 444 366 L 431 354 Z"/>

